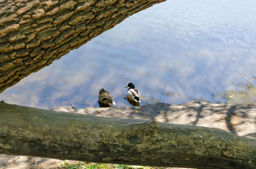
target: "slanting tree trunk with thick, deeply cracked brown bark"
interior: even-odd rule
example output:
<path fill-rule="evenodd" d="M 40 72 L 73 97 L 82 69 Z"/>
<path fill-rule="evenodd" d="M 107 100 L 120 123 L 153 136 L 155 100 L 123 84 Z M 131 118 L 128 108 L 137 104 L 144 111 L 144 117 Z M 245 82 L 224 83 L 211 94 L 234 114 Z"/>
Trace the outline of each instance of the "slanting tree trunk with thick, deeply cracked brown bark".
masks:
<path fill-rule="evenodd" d="M 165 0 L 1 0 L 0 92 Z"/>

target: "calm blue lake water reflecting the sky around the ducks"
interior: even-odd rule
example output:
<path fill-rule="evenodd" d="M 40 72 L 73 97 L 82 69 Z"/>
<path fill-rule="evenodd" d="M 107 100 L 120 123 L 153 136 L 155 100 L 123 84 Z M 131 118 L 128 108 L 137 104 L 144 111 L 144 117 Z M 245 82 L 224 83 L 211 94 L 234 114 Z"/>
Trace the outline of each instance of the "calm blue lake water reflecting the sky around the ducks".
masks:
<path fill-rule="evenodd" d="M 256 101 L 256 1 L 167 0 L 141 11 L 0 94 L 36 108 L 98 107 L 101 88 L 130 105 Z"/>

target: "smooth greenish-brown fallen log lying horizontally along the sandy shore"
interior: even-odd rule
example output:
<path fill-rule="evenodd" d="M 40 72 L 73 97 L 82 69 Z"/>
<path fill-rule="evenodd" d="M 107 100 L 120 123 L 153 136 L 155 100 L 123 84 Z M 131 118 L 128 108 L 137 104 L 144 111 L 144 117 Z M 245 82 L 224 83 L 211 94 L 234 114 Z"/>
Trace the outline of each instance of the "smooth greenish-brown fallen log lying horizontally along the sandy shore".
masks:
<path fill-rule="evenodd" d="M 256 140 L 219 129 L 0 103 L 0 154 L 198 169 L 255 169 Z"/>

